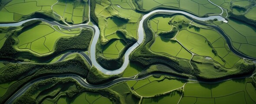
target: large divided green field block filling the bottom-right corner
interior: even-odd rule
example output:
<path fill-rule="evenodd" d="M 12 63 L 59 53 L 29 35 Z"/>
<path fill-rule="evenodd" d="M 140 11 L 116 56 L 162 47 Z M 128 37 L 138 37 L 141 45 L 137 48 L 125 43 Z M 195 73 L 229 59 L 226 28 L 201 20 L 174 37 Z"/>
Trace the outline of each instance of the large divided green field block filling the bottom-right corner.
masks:
<path fill-rule="evenodd" d="M 248 78 L 217 84 L 187 83 L 180 104 L 255 104 L 255 94 L 252 95 L 252 91 L 246 90 L 251 81 L 252 79 Z"/>

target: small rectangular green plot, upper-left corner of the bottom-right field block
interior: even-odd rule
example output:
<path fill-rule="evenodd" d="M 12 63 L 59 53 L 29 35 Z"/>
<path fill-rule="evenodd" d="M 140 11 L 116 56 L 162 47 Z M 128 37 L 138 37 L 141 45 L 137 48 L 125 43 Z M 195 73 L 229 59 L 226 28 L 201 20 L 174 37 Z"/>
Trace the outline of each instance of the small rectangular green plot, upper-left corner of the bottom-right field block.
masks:
<path fill-rule="evenodd" d="M 210 84 L 187 83 L 184 87 L 184 97 L 211 97 Z"/>

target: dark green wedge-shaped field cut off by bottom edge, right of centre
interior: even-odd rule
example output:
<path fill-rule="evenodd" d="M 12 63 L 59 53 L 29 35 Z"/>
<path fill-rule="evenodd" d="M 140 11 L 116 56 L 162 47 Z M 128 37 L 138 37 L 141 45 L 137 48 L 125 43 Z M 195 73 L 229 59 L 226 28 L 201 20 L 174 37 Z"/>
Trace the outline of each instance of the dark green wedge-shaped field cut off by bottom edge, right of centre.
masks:
<path fill-rule="evenodd" d="M 161 95 L 159 97 L 143 98 L 141 104 L 177 104 L 181 98 L 181 94 L 172 91 L 170 94 Z"/>

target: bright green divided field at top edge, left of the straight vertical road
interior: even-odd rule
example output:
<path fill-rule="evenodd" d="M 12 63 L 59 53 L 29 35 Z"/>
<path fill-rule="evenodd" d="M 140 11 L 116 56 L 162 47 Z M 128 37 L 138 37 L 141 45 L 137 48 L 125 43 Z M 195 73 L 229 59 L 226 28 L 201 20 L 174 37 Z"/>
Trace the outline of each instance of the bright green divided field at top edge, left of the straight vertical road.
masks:
<path fill-rule="evenodd" d="M 82 0 L 59 0 L 58 3 L 53 5 L 53 11 L 62 16 L 66 22 L 72 24 L 80 24 L 88 19 L 88 14 L 86 14 L 88 10 L 87 2 L 83 2 Z"/>

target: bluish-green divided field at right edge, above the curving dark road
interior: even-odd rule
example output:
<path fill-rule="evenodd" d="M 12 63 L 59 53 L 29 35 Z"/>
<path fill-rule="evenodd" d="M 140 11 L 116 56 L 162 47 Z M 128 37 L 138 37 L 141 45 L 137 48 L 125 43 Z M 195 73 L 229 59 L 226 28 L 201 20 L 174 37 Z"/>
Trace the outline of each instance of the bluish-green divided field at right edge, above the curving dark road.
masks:
<path fill-rule="evenodd" d="M 230 20 L 229 23 L 219 25 L 224 30 L 233 42 L 235 49 L 243 52 L 244 54 L 256 57 L 256 32 L 254 27 L 246 26 L 239 21 Z"/>

